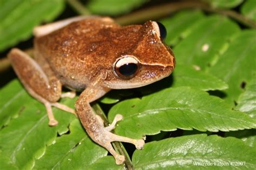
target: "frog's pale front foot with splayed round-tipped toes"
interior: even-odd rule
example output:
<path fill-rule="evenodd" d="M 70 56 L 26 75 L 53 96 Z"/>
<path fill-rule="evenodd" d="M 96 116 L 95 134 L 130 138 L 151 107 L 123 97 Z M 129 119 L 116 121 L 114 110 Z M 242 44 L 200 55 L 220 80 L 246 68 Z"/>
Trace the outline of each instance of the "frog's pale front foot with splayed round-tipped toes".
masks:
<path fill-rule="evenodd" d="M 123 155 L 119 155 L 116 151 L 114 151 L 111 142 L 129 142 L 135 145 L 137 149 L 142 149 L 145 144 L 145 141 L 143 139 L 131 139 L 110 132 L 115 128 L 117 121 L 120 121 L 122 119 L 123 116 L 121 114 L 117 114 L 116 117 L 114 117 L 112 124 L 110 124 L 107 127 L 104 127 L 103 134 L 100 134 L 98 135 L 98 137 L 96 137 L 96 140 L 99 142 L 99 144 L 105 147 L 107 151 L 109 151 L 113 155 L 117 165 L 123 164 L 123 162 L 125 161 L 125 157 Z"/>

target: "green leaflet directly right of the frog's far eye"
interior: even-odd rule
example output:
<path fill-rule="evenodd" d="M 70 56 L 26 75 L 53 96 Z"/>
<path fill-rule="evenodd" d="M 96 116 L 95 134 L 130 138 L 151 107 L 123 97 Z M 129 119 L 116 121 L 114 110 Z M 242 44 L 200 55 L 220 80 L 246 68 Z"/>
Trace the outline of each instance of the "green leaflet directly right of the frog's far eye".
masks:
<path fill-rule="evenodd" d="M 193 24 L 204 17 L 203 12 L 200 10 L 184 10 L 172 17 L 162 19 L 160 22 L 165 25 L 168 32 L 165 43 L 171 46 L 176 45 L 181 39 L 185 38 L 184 32 L 190 30 Z"/>

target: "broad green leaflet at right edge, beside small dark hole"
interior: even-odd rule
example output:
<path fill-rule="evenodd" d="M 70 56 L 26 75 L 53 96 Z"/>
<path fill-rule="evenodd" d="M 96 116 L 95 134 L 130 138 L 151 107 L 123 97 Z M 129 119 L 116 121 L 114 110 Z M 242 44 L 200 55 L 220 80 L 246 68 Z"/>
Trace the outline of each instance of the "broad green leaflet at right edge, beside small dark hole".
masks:
<path fill-rule="evenodd" d="M 241 85 L 248 83 L 256 73 L 256 31 L 245 30 L 237 33 L 227 50 L 221 55 L 210 73 L 223 79 L 229 86 L 225 90 L 226 100 L 233 103 L 243 91 Z"/>

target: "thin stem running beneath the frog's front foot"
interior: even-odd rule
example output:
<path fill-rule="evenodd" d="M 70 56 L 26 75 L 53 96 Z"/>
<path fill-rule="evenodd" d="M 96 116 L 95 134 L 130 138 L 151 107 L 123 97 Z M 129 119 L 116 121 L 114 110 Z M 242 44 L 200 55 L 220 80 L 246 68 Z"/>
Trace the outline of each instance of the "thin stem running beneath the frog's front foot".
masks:
<path fill-rule="evenodd" d="M 102 120 L 104 121 L 104 125 L 108 126 L 109 120 L 107 120 L 106 115 L 103 112 L 102 108 L 100 108 L 99 104 L 93 103 L 92 108 L 96 112 L 96 114 L 98 114 L 102 118 Z M 124 157 L 125 157 L 124 164 L 127 167 L 127 169 L 133 169 L 132 161 L 131 161 L 128 153 L 126 152 L 123 144 L 121 142 L 117 142 L 117 141 L 112 142 L 112 144 L 119 154 L 124 155 Z"/>

